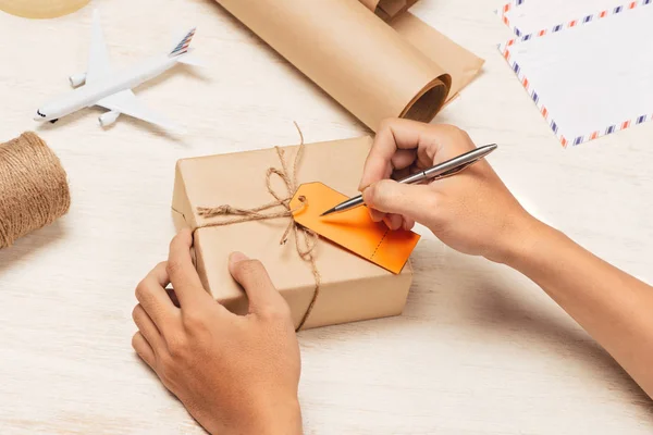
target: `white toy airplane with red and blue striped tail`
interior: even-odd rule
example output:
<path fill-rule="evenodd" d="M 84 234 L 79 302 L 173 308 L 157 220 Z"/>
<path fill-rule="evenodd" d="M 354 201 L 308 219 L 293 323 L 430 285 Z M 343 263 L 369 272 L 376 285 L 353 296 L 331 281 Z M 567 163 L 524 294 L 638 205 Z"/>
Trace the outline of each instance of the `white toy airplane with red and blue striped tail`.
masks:
<path fill-rule="evenodd" d="M 124 72 L 113 72 L 109 63 L 99 13 L 94 11 L 88 71 L 72 75 L 71 86 L 78 88 L 42 105 L 36 111 L 34 120 L 56 123 L 60 117 L 79 109 L 101 105 L 109 109 L 109 112 L 99 117 L 102 127 L 113 124 L 118 116 L 124 113 L 167 129 L 178 130 L 165 117 L 138 101 L 132 88 L 157 77 L 177 62 L 197 65 L 188 58 L 188 46 L 193 36 L 195 36 L 195 28 L 190 29 L 169 54 L 149 59 Z M 82 86 L 84 84 L 85 86 Z"/>

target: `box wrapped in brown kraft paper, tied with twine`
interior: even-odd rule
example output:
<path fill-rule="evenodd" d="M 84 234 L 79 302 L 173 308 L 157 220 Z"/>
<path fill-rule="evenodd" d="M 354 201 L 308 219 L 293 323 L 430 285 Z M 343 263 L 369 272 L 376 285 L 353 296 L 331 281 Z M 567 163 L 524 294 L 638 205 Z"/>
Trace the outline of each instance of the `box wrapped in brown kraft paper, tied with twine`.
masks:
<path fill-rule="evenodd" d="M 322 182 L 355 195 L 370 147 L 369 137 L 306 145 L 297 181 Z M 292 162 L 297 147 L 284 150 Z M 312 300 L 316 282 L 295 244 L 280 245 L 289 217 L 202 227 L 211 220 L 197 212 L 198 207 L 269 203 L 273 200 L 266 187 L 269 167 L 281 167 L 274 149 L 180 160 L 172 214 L 177 228 L 194 231 L 197 271 L 218 301 L 233 312 L 247 312 L 245 293 L 227 270 L 230 253 L 242 251 L 266 265 L 297 327 Z M 285 195 L 281 183 L 274 188 Z M 412 277 L 410 264 L 394 275 L 326 240 L 320 239 L 316 249 L 321 286 L 304 328 L 401 314 Z"/>

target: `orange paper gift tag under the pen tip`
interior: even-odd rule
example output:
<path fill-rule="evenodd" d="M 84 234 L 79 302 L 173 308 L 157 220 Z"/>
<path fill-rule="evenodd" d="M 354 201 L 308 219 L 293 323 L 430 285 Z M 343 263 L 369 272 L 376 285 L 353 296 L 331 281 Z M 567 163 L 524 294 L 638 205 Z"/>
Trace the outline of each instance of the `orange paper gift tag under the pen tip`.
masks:
<path fill-rule="evenodd" d="M 304 207 L 299 197 L 306 198 Z M 299 225 L 383 269 L 402 272 L 419 235 L 404 229 L 390 231 L 383 222 L 373 222 L 365 207 L 320 217 L 324 211 L 346 199 L 322 183 L 308 183 L 299 186 L 291 208 L 297 210 L 293 215 Z"/>

